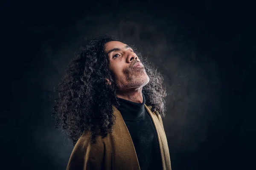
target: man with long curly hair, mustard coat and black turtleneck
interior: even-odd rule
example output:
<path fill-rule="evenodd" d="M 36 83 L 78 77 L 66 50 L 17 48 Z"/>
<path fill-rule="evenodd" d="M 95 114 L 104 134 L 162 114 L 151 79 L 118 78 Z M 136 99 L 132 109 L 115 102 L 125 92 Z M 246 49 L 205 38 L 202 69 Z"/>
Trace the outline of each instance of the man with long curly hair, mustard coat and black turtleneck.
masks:
<path fill-rule="evenodd" d="M 75 145 L 67 170 L 171 170 L 163 77 L 135 50 L 96 37 L 68 66 L 54 108 Z"/>

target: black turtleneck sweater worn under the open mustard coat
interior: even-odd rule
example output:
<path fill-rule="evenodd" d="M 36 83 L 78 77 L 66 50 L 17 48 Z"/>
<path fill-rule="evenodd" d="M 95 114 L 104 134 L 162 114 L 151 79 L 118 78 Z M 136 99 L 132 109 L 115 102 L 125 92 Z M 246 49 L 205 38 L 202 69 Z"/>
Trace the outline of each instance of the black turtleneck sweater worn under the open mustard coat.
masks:
<path fill-rule="evenodd" d="M 145 109 L 145 96 L 143 95 L 143 103 L 118 99 L 120 104 L 118 110 L 131 135 L 140 170 L 161 170 L 162 163 L 157 133 L 151 116 Z"/>

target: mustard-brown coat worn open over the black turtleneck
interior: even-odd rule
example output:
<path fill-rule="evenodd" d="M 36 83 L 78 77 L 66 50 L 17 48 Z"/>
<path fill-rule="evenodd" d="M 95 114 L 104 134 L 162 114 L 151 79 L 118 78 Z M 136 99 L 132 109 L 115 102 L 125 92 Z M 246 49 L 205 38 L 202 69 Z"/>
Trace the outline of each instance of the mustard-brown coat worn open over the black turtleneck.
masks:
<path fill-rule="evenodd" d="M 157 131 L 163 170 L 172 170 L 162 118 L 150 108 L 151 106 L 145 105 Z M 113 125 L 113 132 L 108 133 L 105 138 L 96 135 L 96 143 L 91 144 L 90 132 L 81 135 L 73 148 L 66 170 L 140 170 L 131 135 L 121 113 L 114 106 L 113 115 L 116 116 L 116 124 Z"/>

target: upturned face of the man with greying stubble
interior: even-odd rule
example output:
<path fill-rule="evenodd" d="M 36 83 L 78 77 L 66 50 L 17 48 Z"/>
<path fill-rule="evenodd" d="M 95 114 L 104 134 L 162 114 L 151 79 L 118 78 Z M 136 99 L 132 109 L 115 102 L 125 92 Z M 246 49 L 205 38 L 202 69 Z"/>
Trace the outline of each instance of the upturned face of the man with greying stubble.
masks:
<path fill-rule="evenodd" d="M 105 52 L 119 91 L 142 88 L 149 82 L 145 68 L 131 47 L 119 41 L 110 41 L 105 44 Z M 139 63 L 141 65 L 134 67 Z"/>

